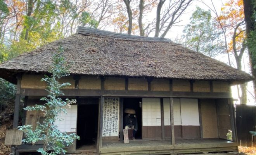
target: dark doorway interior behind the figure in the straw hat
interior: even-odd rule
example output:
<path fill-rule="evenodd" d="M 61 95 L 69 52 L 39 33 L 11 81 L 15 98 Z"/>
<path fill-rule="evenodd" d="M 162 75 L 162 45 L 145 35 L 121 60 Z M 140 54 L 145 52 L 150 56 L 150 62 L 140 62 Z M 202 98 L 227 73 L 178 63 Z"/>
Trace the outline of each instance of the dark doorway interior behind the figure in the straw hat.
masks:
<path fill-rule="evenodd" d="M 125 108 L 132 108 L 136 112 L 137 122 L 138 122 L 138 131 L 135 135 L 136 139 L 142 139 L 142 98 L 124 98 L 124 111 L 123 117 L 127 115 L 125 113 Z M 125 126 L 123 126 L 125 128 Z"/>

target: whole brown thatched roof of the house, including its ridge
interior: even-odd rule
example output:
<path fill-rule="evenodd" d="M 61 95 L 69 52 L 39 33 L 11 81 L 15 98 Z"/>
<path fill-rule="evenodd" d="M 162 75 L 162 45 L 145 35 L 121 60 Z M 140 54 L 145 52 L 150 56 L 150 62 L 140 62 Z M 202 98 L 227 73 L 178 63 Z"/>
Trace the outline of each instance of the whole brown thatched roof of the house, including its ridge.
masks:
<path fill-rule="evenodd" d="M 0 76 L 48 71 L 59 45 L 71 74 L 157 77 L 243 83 L 249 74 L 163 38 L 148 38 L 80 28 L 78 34 L 48 43 L 0 64 Z"/>

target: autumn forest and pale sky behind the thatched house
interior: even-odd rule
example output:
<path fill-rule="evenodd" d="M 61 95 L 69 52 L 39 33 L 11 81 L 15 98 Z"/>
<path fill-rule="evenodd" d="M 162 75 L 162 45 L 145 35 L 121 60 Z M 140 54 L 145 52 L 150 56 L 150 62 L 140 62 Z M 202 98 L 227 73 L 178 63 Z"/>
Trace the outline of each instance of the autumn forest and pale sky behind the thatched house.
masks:
<path fill-rule="evenodd" d="M 255 6 L 254 0 L 0 0 L 0 62 L 85 26 L 170 38 L 255 76 Z M 15 86 L 0 79 L 0 92 L 2 106 Z M 235 103 L 256 105 L 253 81 L 233 86 L 232 95 Z"/>

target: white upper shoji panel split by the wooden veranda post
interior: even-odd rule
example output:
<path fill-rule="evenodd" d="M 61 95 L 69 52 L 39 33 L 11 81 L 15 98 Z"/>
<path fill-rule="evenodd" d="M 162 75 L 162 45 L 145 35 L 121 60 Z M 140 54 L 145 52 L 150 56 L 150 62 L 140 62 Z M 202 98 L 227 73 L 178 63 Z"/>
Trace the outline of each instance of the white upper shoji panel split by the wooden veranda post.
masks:
<path fill-rule="evenodd" d="M 164 98 L 164 125 L 171 125 L 170 115 L 170 99 Z M 181 125 L 181 114 L 180 114 L 180 99 L 173 98 L 173 119 L 174 125 Z"/>

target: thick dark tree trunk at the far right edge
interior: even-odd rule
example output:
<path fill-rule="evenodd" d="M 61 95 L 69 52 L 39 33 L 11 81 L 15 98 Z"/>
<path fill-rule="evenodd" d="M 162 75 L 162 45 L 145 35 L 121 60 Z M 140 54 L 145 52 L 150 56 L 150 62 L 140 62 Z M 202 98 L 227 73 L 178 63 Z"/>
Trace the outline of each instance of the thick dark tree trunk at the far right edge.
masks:
<path fill-rule="evenodd" d="M 256 30 L 256 17 L 254 17 L 254 13 L 256 12 L 256 3 L 255 0 L 243 0 L 244 2 L 244 19 L 246 22 L 246 34 L 247 37 L 250 38 L 250 33 Z M 256 69 L 254 66 L 256 65 L 255 56 L 253 54 L 253 49 L 248 46 L 249 58 L 251 62 L 251 70 L 254 78 L 256 77 Z M 254 80 L 254 96 L 256 96 L 256 80 Z"/>

